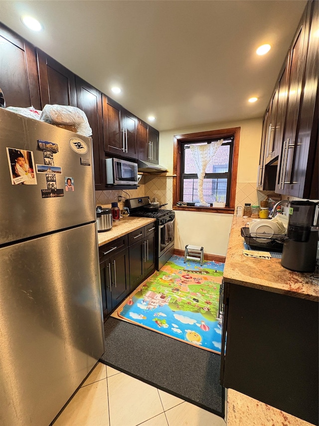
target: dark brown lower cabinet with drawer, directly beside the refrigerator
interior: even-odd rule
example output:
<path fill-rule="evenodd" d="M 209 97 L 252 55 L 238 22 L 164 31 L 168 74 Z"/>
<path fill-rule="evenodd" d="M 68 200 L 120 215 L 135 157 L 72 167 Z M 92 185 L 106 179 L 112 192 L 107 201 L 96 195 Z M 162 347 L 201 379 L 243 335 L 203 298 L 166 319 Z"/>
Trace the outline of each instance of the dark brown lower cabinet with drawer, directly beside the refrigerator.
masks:
<path fill-rule="evenodd" d="M 106 318 L 130 293 L 127 235 L 101 246 L 99 252 L 103 316 Z"/>

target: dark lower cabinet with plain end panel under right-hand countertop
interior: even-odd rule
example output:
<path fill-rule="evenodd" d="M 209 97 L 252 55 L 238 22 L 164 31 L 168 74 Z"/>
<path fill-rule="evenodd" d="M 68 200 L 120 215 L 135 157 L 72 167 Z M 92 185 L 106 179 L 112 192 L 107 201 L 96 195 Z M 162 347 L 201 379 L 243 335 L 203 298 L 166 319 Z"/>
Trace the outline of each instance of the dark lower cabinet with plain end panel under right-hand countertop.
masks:
<path fill-rule="evenodd" d="M 318 302 L 225 283 L 221 384 L 318 425 Z"/>

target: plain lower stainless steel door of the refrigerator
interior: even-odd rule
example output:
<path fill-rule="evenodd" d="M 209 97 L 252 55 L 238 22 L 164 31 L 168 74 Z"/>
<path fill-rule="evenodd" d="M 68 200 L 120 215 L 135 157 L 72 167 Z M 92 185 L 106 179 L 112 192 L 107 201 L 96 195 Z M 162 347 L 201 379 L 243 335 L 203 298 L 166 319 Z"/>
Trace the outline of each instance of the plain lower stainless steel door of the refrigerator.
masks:
<path fill-rule="evenodd" d="M 0 425 L 49 425 L 104 352 L 95 224 L 0 248 Z"/>

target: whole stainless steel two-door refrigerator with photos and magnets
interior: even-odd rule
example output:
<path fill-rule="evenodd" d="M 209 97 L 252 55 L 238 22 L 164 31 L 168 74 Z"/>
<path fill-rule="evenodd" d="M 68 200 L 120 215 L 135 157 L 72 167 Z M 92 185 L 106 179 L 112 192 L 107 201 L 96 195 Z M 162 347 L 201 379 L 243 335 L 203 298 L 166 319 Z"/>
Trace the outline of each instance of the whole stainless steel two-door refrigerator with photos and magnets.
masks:
<path fill-rule="evenodd" d="M 0 108 L 0 425 L 48 425 L 103 352 L 91 138 Z"/>

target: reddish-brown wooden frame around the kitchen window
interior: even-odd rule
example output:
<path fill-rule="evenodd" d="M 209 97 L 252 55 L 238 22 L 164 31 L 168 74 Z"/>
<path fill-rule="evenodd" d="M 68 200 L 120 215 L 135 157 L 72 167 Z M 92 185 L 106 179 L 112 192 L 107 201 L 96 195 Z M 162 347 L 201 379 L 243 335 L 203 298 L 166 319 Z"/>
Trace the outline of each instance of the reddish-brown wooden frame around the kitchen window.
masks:
<path fill-rule="evenodd" d="M 233 136 L 233 155 L 231 164 L 231 187 L 229 197 L 229 207 L 215 208 L 215 207 L 195 207 L 195 206 L 177 206 L 176 203 L 181 200 L 180 194 L 180 160 L 182 143 L 194 141 L 206 141 L 208 138 L 224 138 L 226 136 Z M 209 130 L 206 132 L 186 133 L 174 135 L 173 140 L 173 210 L 182 211 L 196 211 L 196 212 L 209 212 L 209 213 L 226 213 L 234 214 L 235 211 L 235 198 L 236 198 L 236 185 L 237 185 L 237 170 L 238 170 L 238 153 L 239 153 L 239 138 L 240 127 L 232 127 L 229 129 Z"/>

